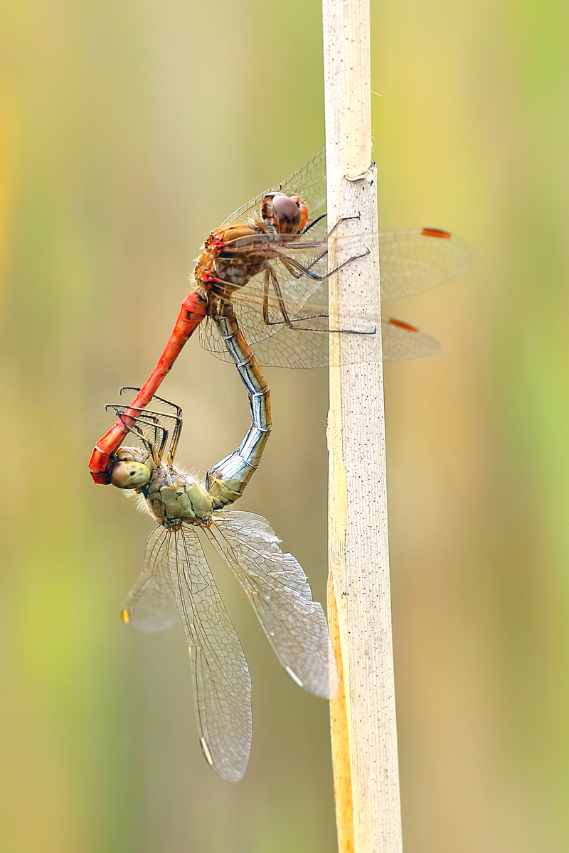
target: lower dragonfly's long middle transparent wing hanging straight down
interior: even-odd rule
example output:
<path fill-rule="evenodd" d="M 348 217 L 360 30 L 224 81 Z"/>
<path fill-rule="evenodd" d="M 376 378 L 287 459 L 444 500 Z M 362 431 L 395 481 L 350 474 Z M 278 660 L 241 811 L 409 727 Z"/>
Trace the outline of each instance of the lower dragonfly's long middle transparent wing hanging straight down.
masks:
<path fill-rule="evenodd" d="M 188 638 L 200 746 L 212 768 L 236 782 L 251 751 L 247 661 L 195 530 L 182 525 L 165 531 L 160 554 Z"/>

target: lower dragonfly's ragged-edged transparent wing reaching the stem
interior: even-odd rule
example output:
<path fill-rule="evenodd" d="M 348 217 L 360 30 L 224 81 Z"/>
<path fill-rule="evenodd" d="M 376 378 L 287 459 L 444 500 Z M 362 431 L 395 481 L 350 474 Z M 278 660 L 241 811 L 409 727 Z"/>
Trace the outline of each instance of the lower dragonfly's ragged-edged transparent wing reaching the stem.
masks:
<path fill-rule="evenodd" d="M 288 675 L 309 693 L 334 696 L 337 673 L 328 624 L 299 562 L 283 554 L 275 531 L 259 515 L 223 511 L 213 518 L 206 532 L 245 589 Z"/>

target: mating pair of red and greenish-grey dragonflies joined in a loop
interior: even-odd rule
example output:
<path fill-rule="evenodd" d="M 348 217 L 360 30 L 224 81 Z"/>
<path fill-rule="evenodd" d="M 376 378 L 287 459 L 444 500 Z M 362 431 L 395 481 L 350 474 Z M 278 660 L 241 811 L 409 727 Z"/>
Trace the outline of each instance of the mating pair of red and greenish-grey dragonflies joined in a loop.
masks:
<path fill-rule="evenodd" d="M 158 522 L 123 618 L 144 631 L 182 622 L 200 745 L 207 762 L 228 780 L 241 779 L 247 767 L 251 683 L 199 535 L 210 540 L 245 589 L 293 681 L 324 698 L 336 689 L 326 619 L 322 606 L 312 601 L 299 563 L 292 554 L 283 554 L 275 532 L 260 516 L 225 508 L 241 496 L 270 434 L 269 388 L 249 344 L 255 345 L 261 363 L 307 368 L 328 362 L 328 338 L 334 331 L 370 334 L 373 317 L 353 316 L 351 328 L 328 328 L 327 280 L 338 269 L 328 270 L 328 237 L 341 221 L 327 230 L 325 192 L 321 152 L 276 191 L 257 196 L 212 232 L 195 268 L 195 289 L 183 301 L 156 368 L 136 389 L 130 406 L 111 407 L 117 421 L 97 442 L 90 460 L 96 482 L 134 490 Z M 342 265 L 361 263 L 368 253 L 366 247 L 354 247 Z M 389 299 L 433 287 L 464 270 L 468 260 L 462 241 L 447 231 L 382 234 L 381 295 Z M 155 397 L 198 327 L 202 345 L 235 363 L 252 416 L 240 447 L 212 467 L 203 484 L 174 465 L 181 410 Z M 381 334 L 387 359 L 439 350 L 436 341 L 406 322 L 381 318 Z M 160 412 L 145 409 L 153 397 L 163 404 Z M 120 447 L 129 432 L 142 446 Z"/>

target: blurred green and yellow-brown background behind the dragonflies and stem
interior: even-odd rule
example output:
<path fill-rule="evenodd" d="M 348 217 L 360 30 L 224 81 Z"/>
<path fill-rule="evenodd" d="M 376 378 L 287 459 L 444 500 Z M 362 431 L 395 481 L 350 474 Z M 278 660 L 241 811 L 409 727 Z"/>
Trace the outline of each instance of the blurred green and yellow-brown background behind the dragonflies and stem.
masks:
<path fill-rule="evenodd" d="M 467 274 L 390 313 L 444 354 L 386 368 L 406 853 L 569 849 L 569 50 L 556 0 L 373 3 L 380 226 Z M 323 142 L 320 7 L 5 0 L 0 844 L 17 853 L 333 853 L 327 706 L 226 590 L 253 672 L 239 785 L 200 756 L 176 630 L 119 607 L 150 520 L 87 472 L 103 404 L 154 365 L 201 242 Z M 325 371 L 267 371 L 240 508 L 323 596 Z M 190 342 L 164 393 L 204 473 L 247 427 Z M 224 587 L 225 589 L 225 587 Z"/>

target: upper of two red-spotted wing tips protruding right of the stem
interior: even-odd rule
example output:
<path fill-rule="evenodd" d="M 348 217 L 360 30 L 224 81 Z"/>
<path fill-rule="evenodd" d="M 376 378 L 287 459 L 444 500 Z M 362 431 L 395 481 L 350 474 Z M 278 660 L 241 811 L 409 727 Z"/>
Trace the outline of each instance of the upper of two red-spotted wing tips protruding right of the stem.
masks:
<path fill-rule="evenodd" d="M 466 270 L 470 252 L 460 237 L 436 228 L 380 234 L 381 297 L 420 293 Z"/>

